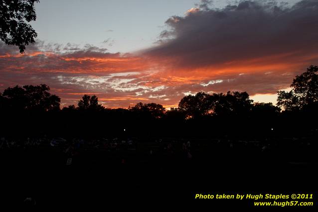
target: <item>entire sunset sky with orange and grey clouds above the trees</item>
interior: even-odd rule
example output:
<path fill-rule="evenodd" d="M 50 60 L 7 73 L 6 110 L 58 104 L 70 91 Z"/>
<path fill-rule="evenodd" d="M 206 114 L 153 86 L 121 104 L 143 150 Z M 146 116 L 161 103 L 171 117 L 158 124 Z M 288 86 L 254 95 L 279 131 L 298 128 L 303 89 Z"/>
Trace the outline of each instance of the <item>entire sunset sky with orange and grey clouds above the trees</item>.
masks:
<path fill-rule="evenodd" d="M 0 92 L 47 84 L 62 106 L 166 108 L 198 91 L 276 92 L 318 65 L 318 0 L 40 0 L 35 44 L 0 42 Z"/>

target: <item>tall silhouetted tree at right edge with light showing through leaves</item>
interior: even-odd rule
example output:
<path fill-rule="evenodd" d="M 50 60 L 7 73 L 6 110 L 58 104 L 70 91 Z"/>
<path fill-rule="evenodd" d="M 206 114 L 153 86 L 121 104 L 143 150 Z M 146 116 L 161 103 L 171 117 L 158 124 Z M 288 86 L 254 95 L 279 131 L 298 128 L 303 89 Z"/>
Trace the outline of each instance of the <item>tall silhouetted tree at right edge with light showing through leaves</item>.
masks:
<path fill-rule="evenodd" d="M 299 110 L 318 103 L 318 66 L 311 65 L 307 71 L 296 76 L 289 92 L 278 91 L 277 105 L 285 110 Z"/>

